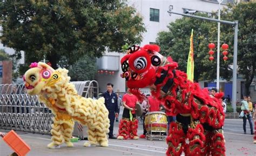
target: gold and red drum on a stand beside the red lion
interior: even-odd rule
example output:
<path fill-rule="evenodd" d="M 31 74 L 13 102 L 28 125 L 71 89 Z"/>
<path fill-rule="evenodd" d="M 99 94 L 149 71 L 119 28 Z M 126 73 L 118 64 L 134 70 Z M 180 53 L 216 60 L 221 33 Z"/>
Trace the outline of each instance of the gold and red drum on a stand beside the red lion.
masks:
<path fill-rule="evenodd" d="M 149 112 L 145 116 L 145 128 L 148 133 L 167 132 L 167 117 L 164 112 Z"/>

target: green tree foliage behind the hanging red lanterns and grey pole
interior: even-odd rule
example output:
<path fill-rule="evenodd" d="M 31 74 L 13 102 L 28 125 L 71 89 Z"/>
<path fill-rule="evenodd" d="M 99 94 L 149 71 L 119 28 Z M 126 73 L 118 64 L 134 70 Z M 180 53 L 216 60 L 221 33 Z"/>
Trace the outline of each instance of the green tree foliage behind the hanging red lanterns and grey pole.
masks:
<path fill-rule="evenodd" d="M 256 68 L 256 3 L 239 3 L 228 5 L 221 11 L 221 19 L 226 21 L 239 21 L 238 33 L 238 72 L 246 79 L 246 94 L 250 94 L 250 85 L 255 76 Z M 214 13 L 214 12 L 213 12 Z M 218 18 L 215 13 L 215 18 Z M 199 16 L 206 16 L 199 14 Z M 179 63 L 181 70 L 186 71 L 186 61 L 189 51 L 189 39 L 191 29 L 194 29 L 194 79 L 213 80 L 216 78 L 217 48 L 214 50 L 214 61 L 208 60 L 208 43 L 217 45 L 217 23 L 207 22 L 201 19 L 183 17 L 172 22 L 168 26 L 169 31 L 158 34 L 157 43 L 164 55 L 172 56 Z M 228 60 L 220 57 L 220 77 L 227 80 L 232 78 L 234 30 L 231 25 L 220 25 L 220 41 L 230 45 Z M 220 53 L 220 56 L 222 54 Z"/>

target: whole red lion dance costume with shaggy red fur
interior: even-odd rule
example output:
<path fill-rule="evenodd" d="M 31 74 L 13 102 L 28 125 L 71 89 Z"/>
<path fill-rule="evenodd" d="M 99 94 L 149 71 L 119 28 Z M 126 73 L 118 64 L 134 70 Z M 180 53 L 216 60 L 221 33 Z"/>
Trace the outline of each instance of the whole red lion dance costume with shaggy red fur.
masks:
<path fill-rule="evenodd" d="M 166 155 L 225 155 L 224 113 L 218 99 L 223 94 L 210 97 L 177 70 L 171 57 L 165 58 L 159 51 L 158 45 L 129 48 L 121 60 L 121 77 L 139 100 L 144 98 L 139 88 L 150 86 L 152 95 L 177 117 L 166 138 Z"/>

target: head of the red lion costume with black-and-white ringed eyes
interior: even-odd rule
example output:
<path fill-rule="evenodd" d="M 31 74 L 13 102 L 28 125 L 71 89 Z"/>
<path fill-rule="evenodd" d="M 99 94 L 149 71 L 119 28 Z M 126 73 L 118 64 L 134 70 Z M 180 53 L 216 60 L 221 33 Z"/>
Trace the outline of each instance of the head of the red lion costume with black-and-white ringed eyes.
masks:
<path fill-rule="evenodd" d="M 129 88 L 143 88 L 154 83 L 157 66 L 163 58 L 159 51 L 158 45 L 129 48 L 127 55 L 121 59 L 123 70 L 121 77 L 126 79 Z"/>

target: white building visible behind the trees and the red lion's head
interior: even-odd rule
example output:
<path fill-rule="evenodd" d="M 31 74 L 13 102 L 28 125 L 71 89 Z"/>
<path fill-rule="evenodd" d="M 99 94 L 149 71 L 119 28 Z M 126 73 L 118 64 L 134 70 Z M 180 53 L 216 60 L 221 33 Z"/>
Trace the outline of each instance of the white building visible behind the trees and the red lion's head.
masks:
<path fill-rule="evenodd" d="M 226 7 L 227 2 L 233 1 L 224 0 L 224 2 L 221 4 L 221 8 Z M 169 25 L 170 22 L 174 22 L 176 19 L 182 17 L 174 14 L 169 16 L 167 11 L 169 10 L 170 5 L 173 8 L 172 11 L 179 13 L 185 13 L 187 10 L 211 13 L 212 11 L 217 11 L 219 8 L 217 0 L 129 0 L 127 3 L 128 5 L 136 8 L 143 17 L 143 22 L 147 32 L 145 32 L 143 35 L 143 41 L 141 43 L 142 46 L 145 44 L 156 43 L 158 32 L 168 31 L 167 25 Z M 125 92 L 125 79 L 120 77 L 120 73 L 122 73 L 120 59 L 124 56 L 124 54 L 106 53 L 104 57 L 98 60 L 98 63 L 102 62 L 103 60 L 106 62 L 107 57 L 109 56 L 119 57 L 119 59 L 114 59 L 109 62 L 112 64 L 113 61 L 118 61 L 119 71 L 116 71 L 111 76 L 108 76 L 107 74 L 97 74 L 96 79 L 98 80 L 100 91 L 105 91 L 107 82 L 111 82 L 114 84 L 114 91 Z M 105 65 L 104 71 L 111 71 L 111 65 Z M 99 67 L 99 70 L 102 70 L 102 67 Z M 148 93 L 149 90 L 144 89 L 143 92 Z"/>

